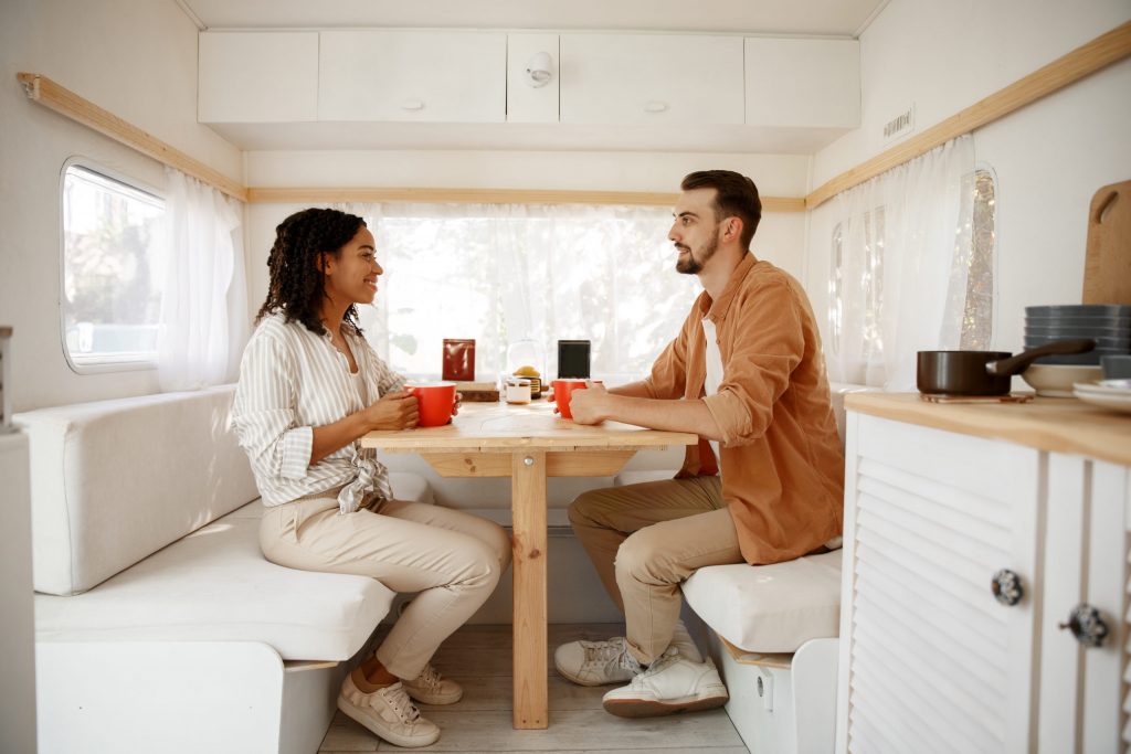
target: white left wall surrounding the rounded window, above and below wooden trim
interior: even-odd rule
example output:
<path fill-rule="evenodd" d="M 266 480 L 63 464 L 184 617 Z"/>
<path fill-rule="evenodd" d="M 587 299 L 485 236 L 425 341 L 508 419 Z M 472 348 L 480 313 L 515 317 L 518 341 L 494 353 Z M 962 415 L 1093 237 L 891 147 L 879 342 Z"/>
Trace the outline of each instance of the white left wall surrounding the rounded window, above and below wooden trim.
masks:
<path fill-rule="evenodd" d="M 15 410 L 155 392 L 153 371 L 78 375 L 60 336 L 60 171 L 75 155 L 161 188 L 161 165 L 32 103 L 43 73 L 232 177 L 238 149 L 196 121 L 197 28 L 172 0 L 0 3 L 0 323 Z"/>

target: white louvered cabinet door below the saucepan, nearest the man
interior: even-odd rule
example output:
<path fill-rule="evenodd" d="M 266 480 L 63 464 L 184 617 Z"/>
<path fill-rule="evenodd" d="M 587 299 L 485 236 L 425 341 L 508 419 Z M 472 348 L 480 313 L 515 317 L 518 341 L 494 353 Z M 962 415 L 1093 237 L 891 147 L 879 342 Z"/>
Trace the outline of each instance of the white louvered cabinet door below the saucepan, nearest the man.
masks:
<path fill-rule="evenodd" d="M 848 414 L 837 751 L 1029 749 L 1041 453 Z"/>

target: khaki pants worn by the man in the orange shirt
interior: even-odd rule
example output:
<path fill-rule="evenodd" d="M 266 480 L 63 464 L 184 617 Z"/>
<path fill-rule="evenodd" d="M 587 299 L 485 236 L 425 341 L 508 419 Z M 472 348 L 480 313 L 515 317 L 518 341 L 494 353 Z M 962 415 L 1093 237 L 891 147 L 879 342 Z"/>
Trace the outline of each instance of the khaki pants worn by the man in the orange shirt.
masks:
<path fill-rule="evenodd" d="M 569 519 L 624 613 L 629 651 L 649 664 L 680 617 L 680 583 L 706 565 L 743 563 L 719 477 L 594 489 Z"/>

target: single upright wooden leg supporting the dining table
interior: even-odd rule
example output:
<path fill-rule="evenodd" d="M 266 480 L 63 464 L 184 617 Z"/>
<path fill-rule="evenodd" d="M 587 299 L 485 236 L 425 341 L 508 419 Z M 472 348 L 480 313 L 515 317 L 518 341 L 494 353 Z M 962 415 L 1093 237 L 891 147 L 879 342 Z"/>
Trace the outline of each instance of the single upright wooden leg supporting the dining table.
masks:
<path fill-rule="evenodd" d="M 515 526 L 515 728 L 549 725 L 546 668 L 546 454 L 511 456 Z"/>

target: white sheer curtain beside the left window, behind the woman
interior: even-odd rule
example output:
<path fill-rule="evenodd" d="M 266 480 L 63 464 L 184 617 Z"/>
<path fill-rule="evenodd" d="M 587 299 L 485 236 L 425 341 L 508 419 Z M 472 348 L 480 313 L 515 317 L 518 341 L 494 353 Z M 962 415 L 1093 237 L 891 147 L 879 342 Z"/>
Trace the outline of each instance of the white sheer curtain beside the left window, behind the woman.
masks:
<path fill-rule="evenodd" d="M 161 389 L 235 379 L 248 335 L 240 205 L 166 168 L 166 268 L 161 301 Z"/>

